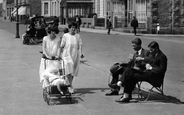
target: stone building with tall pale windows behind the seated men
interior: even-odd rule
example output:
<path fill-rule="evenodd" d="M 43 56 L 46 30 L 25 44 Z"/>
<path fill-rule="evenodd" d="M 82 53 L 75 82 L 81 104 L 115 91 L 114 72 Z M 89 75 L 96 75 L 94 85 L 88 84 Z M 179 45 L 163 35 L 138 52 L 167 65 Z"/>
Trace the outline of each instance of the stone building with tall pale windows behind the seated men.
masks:
<path fill-rule="evenodd" d="M 184 0 L 107 0 L 107 15 L 113 17 L 114 29 L 131 31 L 131 20 L 135 16 L 138 30 L 160 34 L 184 33 Z M 110 10 L 109 10 L 110 9 Z"/>

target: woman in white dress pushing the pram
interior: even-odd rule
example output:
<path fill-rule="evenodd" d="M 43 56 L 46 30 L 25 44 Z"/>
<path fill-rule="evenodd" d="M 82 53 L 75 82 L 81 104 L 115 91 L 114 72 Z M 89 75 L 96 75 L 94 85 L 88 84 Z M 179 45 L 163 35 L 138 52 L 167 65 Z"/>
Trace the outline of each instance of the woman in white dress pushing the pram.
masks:
<path fill-rule="evenodd" d="M 59 47 L 61 40 L 56 34 L 59 33 L 58 28 L 54 27 L 48 27 L 47 28 L 48 35 L 43 38 L 43 44 L 42 44 L 42 50 L 43 55 L 49 59 L 52 59 L 53 57 L 58 57 L 59 55 Z M 45 60 L 44 58 L 41 59 L 40 63 L 40 82 L 43 82 L 44 78 L 42 76 L 43 72 L 47 67 L 54 66 L 59 67 L 60 64 L 58 63 L 58 60 Z"/>

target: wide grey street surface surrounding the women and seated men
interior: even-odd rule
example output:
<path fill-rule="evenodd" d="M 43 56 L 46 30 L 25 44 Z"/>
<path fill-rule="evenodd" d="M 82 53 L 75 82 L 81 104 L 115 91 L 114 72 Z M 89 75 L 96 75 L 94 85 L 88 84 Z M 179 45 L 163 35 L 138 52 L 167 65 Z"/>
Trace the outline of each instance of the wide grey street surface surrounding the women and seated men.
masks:
<path fill-rule="evenodd" d="M 74 102 L 63 100 L 48 106 L 42 98 L 38 69 L 41 45 L 23 45 L 15 38 L 15 23 L 0 22 L 0 114 L 1 115 L 183 115 L 184 101 L 184 39 L 180 36 L 140 35 L 143 47 L 156 40 L 168 57 L 168 70 L 164 91 L 170 101 L 148 101 L 119 104 L 120 96 L 106 97 L 109 91 L 107 79 L 110 66 L 126 61 L 134 53 L 131 34 L 82 29 L 85 64 L 81 64 L 79 76 L 74 79 Z M 20 25 L 20 35 L 25 25 Z M 100 33 L 97 33 L 97 32 Z M 95 33 L 93 33 L 95 32 Z M 59 36 L 62 33 L 60 32 Z M 145 85 L 147 87 L 147 85 Z M 134 95 L 133 97 L 137 97 Z M 160 97 L 160 96 L 158 96 Z"/>

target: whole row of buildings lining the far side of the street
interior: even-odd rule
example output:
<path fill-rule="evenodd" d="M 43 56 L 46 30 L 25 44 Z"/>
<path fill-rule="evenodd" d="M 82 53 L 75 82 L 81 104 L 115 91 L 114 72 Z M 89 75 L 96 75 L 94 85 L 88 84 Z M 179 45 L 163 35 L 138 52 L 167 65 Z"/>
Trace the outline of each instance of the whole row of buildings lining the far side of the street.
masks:
<path fill-rule="evenodd" d="M 139 31 L 156 33 L 159 23 L 160 33 L 184 33 L 184 0 L 18 0 L 18 5 L 19 9 L 26 7 L 29 16 L 57 16 L 62 24 L 76 15 L 91 18 L 96 13 L 97 19 L 111 16 L 115 30 L 131 30 L 132 17 L 136 16 Z M 4 18 L 9 18 L 15 9 L 16 0 L 3 0 Z"/>

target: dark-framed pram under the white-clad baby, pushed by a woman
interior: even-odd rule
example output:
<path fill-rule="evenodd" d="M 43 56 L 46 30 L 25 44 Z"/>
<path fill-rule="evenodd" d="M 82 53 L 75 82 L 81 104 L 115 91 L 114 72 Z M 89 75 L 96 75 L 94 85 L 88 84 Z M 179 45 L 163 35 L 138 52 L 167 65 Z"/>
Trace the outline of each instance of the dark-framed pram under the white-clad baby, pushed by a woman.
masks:
<path fill-rule="evenodd" d="M 40 52 L 42 53 L 42 52 Z M 57 58 L 53 57 L 52 59 L 48 59 L 46 56 L 42 56 L 44 59 L 45 69 L 46 69 L 46 61 L 47 60 L 58 60 Z M 64 61 L 60 61 L 62 64 L 62 69 L 59 69 L 60 75 L 65 75 L 65 68 L 64 68 Z M 66 76 L 65 76 L 66 77 Z M 45 79 L 47 82 L 48 79 Z M 72 93 L 69 92 L 68 87 L 70 85 L 61 85 L 60 88 L 62 89 L 63 94 L 61 94 L 57 88 L 56 85 L 53 85 L 52 83 L 49 83 L 48 86 L 43 88 L 43 99 L 48 105 L 56 104 L 54 97 L 57 99 L 67 99 L 67 101 L 70 101 L 72 103 Z M 53 102 L 53 103 L 51 103 Z"/>

